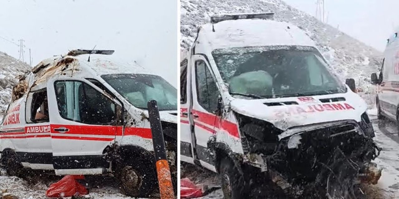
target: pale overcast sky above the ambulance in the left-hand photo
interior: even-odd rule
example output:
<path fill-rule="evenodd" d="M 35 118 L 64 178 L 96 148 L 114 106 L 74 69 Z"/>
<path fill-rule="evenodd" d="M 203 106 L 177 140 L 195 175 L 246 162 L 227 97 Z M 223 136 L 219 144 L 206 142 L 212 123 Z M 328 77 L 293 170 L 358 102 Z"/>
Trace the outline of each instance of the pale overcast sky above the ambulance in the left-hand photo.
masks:
<path fill-rule="evenodd" d="M 177 85 L 175 0 L 0 0 L 0 37 L 23 38 L 33 65 L 68 50 L 114 49 Z M 0 51 L 19 47 L 0 38 Z M 25 49 L 29 63 L 29 50 Z"/>

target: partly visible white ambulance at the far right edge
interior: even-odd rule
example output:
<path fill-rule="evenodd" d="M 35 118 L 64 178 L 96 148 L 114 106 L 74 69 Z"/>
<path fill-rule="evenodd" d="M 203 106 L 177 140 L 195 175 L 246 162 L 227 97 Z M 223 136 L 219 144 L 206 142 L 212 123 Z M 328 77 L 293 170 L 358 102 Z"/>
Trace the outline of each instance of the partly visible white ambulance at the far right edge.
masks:
<path fill-rule="evenodd" d="M 395 33 L 387 39 L 381 71 L 371 74 L 371 84 L 377 85 L 377 115 L 397 124 L 399 121 L 399 39 Z M 398 126 L 399 130 L 399 126 Z"/>

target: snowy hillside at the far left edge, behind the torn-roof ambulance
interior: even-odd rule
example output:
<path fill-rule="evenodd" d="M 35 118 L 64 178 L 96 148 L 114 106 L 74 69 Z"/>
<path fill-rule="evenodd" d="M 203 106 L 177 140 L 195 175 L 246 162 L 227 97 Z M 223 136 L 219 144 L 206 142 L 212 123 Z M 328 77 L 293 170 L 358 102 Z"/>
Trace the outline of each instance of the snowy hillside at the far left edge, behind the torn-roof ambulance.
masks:
<path fill-rule="evenodd" d="M 16 76 L 29 69 L 28 64 L 0 52 L 0 119 L 11 100 L 12 87 L 18 82 Z"/>

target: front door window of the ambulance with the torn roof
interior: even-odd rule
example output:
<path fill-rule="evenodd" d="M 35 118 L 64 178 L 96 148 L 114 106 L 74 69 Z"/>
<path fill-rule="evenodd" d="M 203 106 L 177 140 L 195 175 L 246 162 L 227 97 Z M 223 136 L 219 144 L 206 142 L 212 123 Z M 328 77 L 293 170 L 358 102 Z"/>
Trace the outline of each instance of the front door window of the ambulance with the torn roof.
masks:
<path fill-rule="evenodd" d="M 84 82 L 57 81 L 55 94 L 64 119 L 86 124 L 111 124 L 116 119 L 115 103 Z"/>

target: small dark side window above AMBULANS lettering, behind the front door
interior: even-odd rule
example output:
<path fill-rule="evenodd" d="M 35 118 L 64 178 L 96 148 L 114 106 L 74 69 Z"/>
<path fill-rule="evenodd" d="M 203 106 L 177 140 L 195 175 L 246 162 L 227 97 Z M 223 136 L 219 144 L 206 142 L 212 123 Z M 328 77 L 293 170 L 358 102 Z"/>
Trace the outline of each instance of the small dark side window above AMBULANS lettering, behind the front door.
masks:
<path fill-rule="evenodd" d="M 47 91 L 33 93 L 30 120 L 34 123 L 49 122 Z"/>

